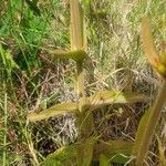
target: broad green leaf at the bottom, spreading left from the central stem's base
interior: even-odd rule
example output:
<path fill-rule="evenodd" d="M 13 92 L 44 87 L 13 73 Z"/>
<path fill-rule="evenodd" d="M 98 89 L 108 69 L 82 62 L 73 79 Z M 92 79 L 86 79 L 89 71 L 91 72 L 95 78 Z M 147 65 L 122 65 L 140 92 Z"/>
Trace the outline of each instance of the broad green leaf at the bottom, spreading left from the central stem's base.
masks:
<path fill-rule="evenodd" d="M 90 166 L 95 139 L 90 137 L 80 143 L 62 147 L 49 155 L 41 166 Z M 81 153 L 80 153 L 81 152 Z"/>

